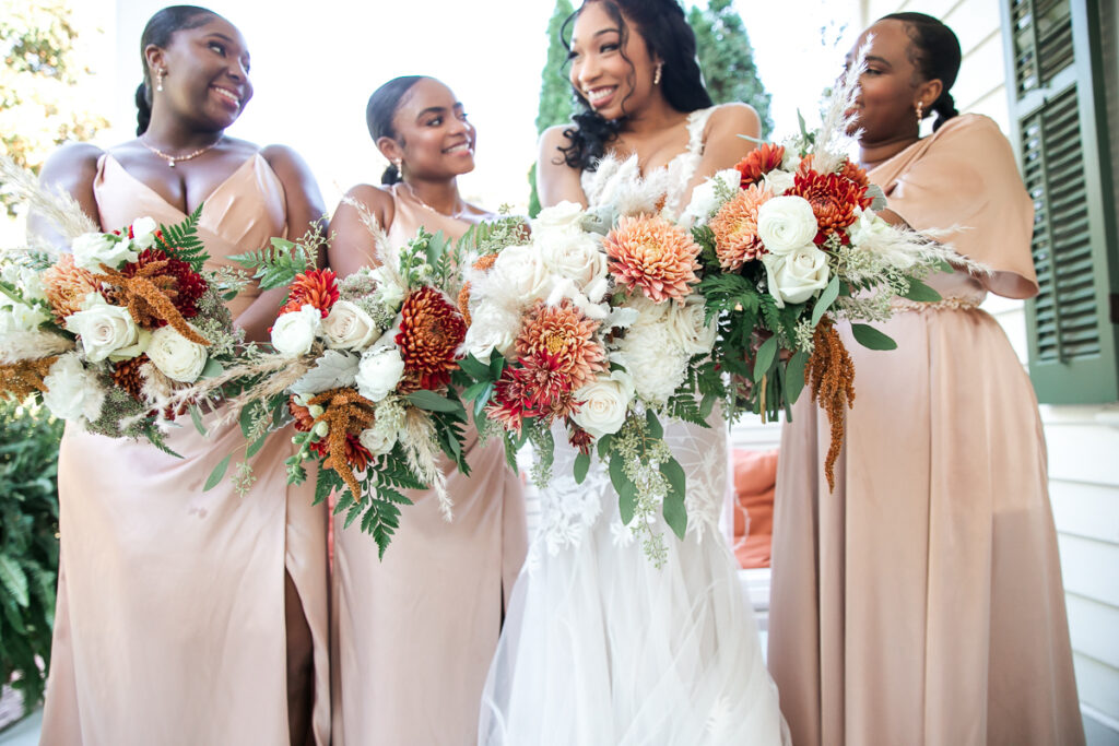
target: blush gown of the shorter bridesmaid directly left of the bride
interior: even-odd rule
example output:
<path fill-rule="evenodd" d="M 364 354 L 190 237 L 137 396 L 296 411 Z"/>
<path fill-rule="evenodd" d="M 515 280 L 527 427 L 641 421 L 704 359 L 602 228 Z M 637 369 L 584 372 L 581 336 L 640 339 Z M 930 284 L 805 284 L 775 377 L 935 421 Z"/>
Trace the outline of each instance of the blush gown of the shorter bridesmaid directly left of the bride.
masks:
<path fill-rule="evenodd" d="M 402 245 L 423 226 L 450 238 L 470 227 L 392 187 L 388 240 Z M 368 257 L 370 261 L 373 257 Z M 466 746 L 525 557 L 527 529 L 518 476 L 500 441 L 478 445 L 468 431 L 471 473 L 452 473 L 454 520 L 434 492 L 410 491 L 401 528 L 377 557 L 373 538 L 335 518 L 335 746 Z"/>

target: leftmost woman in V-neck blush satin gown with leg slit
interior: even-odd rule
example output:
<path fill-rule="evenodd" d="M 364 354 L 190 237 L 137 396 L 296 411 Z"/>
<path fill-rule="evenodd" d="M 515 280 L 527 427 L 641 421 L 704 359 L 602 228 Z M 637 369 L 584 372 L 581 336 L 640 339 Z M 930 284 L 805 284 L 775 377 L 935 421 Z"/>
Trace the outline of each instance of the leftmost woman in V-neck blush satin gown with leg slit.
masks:
<path fill-rule="evenodd" d="M 140 49 L 139 136 L 106 152 L 68 145 L 43 182 L 104 230 L 172 224 L 203 204 L 211 265 L 271 236 L 302 236 L 325 210 L 293 151 L 225 134 L 253 95 L 241 31 L 204 8 L 157 12 Z M 173 167 L 173 168 L 169 168 Z M 229 303 L 266 339 L 282 291 Z M 275 434 L 241 497 L 203 492 L 239 427 L 186 423 L 182 459 L 68 427 L 58 463 L 62 557 L 43 742 L 86 746 L 317 744 L 330 739 L 326 510 L 290 488 Z"/>

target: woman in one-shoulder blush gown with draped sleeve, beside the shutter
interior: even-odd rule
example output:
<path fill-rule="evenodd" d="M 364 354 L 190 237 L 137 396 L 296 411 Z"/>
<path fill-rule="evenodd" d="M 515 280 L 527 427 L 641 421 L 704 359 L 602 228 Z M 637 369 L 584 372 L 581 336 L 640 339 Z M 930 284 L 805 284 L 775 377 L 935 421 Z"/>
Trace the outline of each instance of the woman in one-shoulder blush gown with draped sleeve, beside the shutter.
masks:
<path fill-rule="evenodd" d="M 844 341 L 858 399 L 829 492 L 826 417 L 801 397 L 781 443 L 769 664 L 797 746 L 1083 744 L 1045 443 L 988 292 L 1029 298 L 1033 206 L 985 116 L 958 115 L 956 35 L 886 16 L 861 81 L 861 161 L 916 230 L 989 276 L 940 274 L 942 302 Z M 933 134 L 919 123 L 937 115 Z"/>

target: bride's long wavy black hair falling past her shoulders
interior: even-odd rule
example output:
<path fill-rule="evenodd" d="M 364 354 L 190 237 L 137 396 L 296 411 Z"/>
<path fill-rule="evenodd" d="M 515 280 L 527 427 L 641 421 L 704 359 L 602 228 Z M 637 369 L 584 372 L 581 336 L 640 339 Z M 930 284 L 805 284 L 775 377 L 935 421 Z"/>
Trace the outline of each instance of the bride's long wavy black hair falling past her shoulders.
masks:
<path fill-rule="evenodd" d="M 585 0 L 582 8 L 567 17 L 560 30 L 561 41 L 568 51 L 571 28 L 583 8 L 591 2 L 600 3 L 618 23 L 621 31 L 621 55 L 630 64 L 631 77 L 633 64 L 624 53 L 630 35 L 630 25 L 626 22 L 626 18 L 630 19 L 645 39 L 650 55 L 664 62 L 660 88 L 668 104 L 676 111 L 685 113 L 712 105 L 711 95 L 703 84 L 699 63 L 696 60 L 695 32 L 677 0 Z M 582 111 L 572 117 L 575 125 L 564 130 L 563 134 L 571 144 L 560 148 L 560 151 L 567 166 L 593 171 L 598 168 L 599 159 L 605 154 L 606 145 L 621 132 L 626 115 L 617 120 L 604 119 L 591 107 L 577 87 L 575 98 Z M 626 102 L 622 101 L 623 111 L 624 107 Z"/>

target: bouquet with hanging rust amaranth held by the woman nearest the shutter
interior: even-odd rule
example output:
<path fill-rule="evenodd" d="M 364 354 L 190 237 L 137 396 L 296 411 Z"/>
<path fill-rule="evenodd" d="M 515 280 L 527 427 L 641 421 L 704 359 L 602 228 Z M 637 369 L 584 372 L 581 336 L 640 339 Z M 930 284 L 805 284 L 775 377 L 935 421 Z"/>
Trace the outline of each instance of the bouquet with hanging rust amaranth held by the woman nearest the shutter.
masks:
<path fill-rule="evenodd" d="M 831 487 L 844 410 L 855 398 L 854 366 L 835 322 L 850 321 L 864 347 L 894 349 L 864 322 L 888 319 L 897 299 L 941 300 L 923 280 L 951 272 L 949 262 L 982 271 L 877 215 L 886 207 L 882 190 L 846 155 L 861 68 L 836 87 L 819 130 L 807 131 L 801 119 L 797 136 L 762 144 L 698 186 L 685 213 L 703 247 L 697 291 L 707 318 L 718 320 L 700 388 L 726 385 L 732 416 L 745 408 L 764 419 L 782 409 L 791 418 L 791 405 L 809 385 L 831 423 L 825 464 Z"/>

